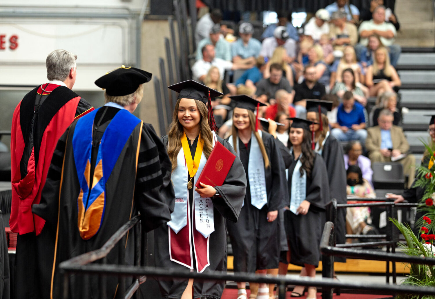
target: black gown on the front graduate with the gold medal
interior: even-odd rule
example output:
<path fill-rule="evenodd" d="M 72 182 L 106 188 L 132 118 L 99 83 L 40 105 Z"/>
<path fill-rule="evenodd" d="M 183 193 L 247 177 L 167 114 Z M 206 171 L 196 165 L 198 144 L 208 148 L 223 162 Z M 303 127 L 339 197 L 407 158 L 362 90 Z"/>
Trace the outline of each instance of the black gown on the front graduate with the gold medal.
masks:
<path fill-rule="evenodd" d="M 224 145 L 233 154 L 234 149 L 228 141 L 217 137 L 218 141 Z M 167 146 L 168 137 L 162 138 L 164 145 Z M 196 151 L 197 139 L 191 145 L 192 157 Z M 182 150 L 182 149 L 180 149 Z M 243 173 L 243 165 L 239 158 L 236 157 L 227 177 L 225 178 L 222 186 L 216 186 L 216 191 L 221 197 L 212 199 L 214 205 L 214 232 L 210 234 L 209 240 L 209 256 L 210 265 L 204 269 L 203 273 L 210 273 L 212 271 L 220 271 L 225 273 L 227 271 L 227 232 L 226 220 L 237 222 L 241 205 L 243 202 L 246 177 L 241 176 Z M 173 182 L 177 184 L 177 182 Z M 192 206 L 193 188 L 189 193 L 190 206 Z M 193 217 L 193 215 L 191 215 Z M 194 256 L 194 254 L 192 253 Z M 166 223 L 162 224 L 154 230 L 154 258 L 156 267 L 177 269 L 179 271 L 190 272 L 185 266 L 171 261 L 169 255 L 169 230 Z M 194 262 L 195 264 L 195 262 Z M 197 269 L 194 269 L 196 272 Z M 185 279 L 161 279 L 158 280 L 161 295 L 163 298 L 177 299 L 181 298 L 184 290 L 187 287 L 188 280 Z M 220 299 L 224 292 L 224 281 L 197 281 L 193 283 L 194 298 L 205 297 L 211 299 Z"/>

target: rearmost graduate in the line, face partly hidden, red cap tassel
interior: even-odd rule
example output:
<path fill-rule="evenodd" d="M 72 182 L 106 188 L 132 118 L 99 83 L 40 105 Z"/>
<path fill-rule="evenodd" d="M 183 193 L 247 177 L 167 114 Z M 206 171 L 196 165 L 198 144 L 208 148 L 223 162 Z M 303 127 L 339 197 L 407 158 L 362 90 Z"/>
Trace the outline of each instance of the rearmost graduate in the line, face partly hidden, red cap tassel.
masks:
<path fill-rule="evenodd" d="M 311 132 L 314 131 L 315 151 L 320 154 L 325 161 L 328 171 L 330 199 L 335 198 L 338 204 L 346 204 L 346 168 L 343 159 L 343 148 L 341 144 L 330 134 L 328 111 L 332 109 L 332 102 L 307 100 L 307 120 L 319 122 L 320 124 L 311 125 Z M 339 209 L 337 223 L 335 227 L 337 244 L 346 242 L 346 210 Z M 345 263 L 346 258 L 338 257 L 336 262 Z"/>

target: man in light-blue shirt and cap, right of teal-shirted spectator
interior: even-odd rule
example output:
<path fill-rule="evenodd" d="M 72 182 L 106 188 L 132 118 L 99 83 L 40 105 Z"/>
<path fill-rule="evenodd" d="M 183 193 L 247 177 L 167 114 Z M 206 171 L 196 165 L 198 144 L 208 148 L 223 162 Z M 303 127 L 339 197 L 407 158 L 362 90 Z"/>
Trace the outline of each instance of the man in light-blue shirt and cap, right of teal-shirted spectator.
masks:
<path fill-rule="evenodd" d="M 243 59 L 255 60 L 260 55 L 261 43 L 254 39 L 254 26 L 251 23 L 242 23 L 239 26 L 240 39 L 231 44 L 233 62 Z"/>

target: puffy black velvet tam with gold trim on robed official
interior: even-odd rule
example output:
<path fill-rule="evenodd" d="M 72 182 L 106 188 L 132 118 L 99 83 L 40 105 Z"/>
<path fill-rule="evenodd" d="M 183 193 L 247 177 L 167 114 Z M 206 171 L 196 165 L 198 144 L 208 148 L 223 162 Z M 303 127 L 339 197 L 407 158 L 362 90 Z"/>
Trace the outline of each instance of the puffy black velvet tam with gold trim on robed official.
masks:
<path fill-rule="evenodd" d="M 95 85 L 106 89 L 107 95 L 130 95 L 136 91 L 139 85 L 150 81 L 152 75 L 141 69 L 121 66 L 98 78 L 95 81 Z"/>

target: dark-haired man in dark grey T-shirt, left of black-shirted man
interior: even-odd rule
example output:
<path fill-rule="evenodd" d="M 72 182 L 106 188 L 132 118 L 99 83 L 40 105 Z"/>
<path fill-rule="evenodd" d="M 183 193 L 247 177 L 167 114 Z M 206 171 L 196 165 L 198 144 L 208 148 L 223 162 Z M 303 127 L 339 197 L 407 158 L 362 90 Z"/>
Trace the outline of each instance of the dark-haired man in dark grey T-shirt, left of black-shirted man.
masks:
<path fill-rule="evenodd" d="M 279 89 L 284 89 L 287 92 L 291 92 L 293 88 L 287 79 L 282 76 L 282 66 L 278 63 L 274 63 L 270 66 L 269 71 L 271 76 L 268 79 L 261 79 L 257 83 L 257 100 L 260 102 L 268 102 L 275 96 L 275 92 Z"/>

